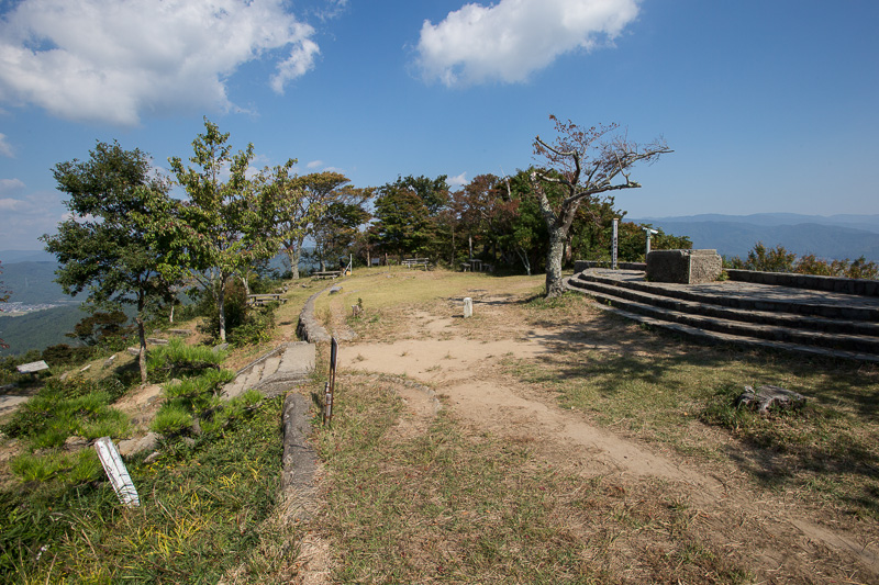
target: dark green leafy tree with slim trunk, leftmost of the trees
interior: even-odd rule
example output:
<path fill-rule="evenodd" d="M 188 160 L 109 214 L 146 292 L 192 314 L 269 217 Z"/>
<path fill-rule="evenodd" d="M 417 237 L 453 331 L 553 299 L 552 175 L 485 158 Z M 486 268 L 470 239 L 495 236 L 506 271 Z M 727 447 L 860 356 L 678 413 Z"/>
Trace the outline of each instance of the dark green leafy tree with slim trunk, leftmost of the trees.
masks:
<path fill-rule="evenodd" d="M 65 205 L 71 217 L 58 224 L 56 235 L 40 239 L 58 259 L 56 281 L 66 294 L 88 290 L 92 312 L 135 306 L 141 380 L 146 382 L 144 323 L 173 297 L 173 281 L 159 270 L 168 250 L 154 237 L 156 220 L 173 209 L 168 182 L 138 149 L 99 142 L 89 155 L 87 161 L 55 166 L 58 190 L 70 198 Z"/>

